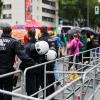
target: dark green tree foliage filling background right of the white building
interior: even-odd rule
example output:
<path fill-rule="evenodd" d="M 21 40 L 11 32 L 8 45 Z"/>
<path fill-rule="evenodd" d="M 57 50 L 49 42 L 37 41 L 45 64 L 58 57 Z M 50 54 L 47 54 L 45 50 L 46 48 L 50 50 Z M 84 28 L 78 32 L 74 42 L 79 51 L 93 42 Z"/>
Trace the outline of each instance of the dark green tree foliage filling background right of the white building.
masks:
<path fill-rule="evenodd" d="M 100 14 L 95 15 L 96 5 L 100 6 L 97 0 L 59 0 L 59 16 L 71 22 L 80 19 L 86 24 L 87 8 L 89 8 L 90 26 L 99 25 Z"/>

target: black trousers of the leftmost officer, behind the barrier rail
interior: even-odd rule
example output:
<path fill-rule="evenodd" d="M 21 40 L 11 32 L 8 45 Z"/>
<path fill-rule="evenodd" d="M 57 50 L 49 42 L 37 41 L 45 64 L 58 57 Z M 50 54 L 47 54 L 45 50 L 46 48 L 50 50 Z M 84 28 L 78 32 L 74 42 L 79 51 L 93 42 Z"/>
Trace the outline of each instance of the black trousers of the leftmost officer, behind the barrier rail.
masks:
<path fill-rule="evenodd" d="M 13 88 L 13 76 L 0 79 L 0 89 L 6 91 L 12 91 Z M 12 96 L 0 93 L 0 100 L 12 100 Z"/>

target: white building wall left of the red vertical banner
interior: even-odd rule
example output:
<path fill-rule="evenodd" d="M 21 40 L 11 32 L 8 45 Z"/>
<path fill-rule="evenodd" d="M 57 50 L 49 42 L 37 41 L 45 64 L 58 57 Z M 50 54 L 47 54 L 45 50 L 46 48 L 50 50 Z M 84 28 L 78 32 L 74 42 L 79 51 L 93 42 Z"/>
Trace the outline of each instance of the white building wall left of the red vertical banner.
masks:
<path fill-rule="evenodd" d="M 24 0 L 3 0 L 4 4 L 11 4 L 12 9 L 3 10 L 3 14 L 12 14 L 12 19 L 0 19 L 0 22 L 7 22 L 10 25 L 25 24 L 25 1 Z"/>

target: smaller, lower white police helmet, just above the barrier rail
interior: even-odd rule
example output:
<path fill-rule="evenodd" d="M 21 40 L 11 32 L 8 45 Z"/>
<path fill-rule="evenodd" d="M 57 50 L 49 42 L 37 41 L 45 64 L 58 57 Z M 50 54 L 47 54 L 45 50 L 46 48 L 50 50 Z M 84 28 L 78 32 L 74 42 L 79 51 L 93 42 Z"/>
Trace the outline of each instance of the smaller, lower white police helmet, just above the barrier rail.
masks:
<path fill-rule="evenodd" d="M 55 60 L 57 57 L 57 53 L 55 50 L 49 49 L 49 51 L 45 54 L 46 60 Z"/>

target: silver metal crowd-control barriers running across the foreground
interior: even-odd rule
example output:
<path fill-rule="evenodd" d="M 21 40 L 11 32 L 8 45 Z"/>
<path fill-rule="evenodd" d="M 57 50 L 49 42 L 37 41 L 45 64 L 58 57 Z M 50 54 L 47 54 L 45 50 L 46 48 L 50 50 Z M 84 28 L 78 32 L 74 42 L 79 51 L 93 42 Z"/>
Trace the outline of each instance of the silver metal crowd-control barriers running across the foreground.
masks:
<path fill-rule="evenodd" d="M 90 57 L 86 57 L 85 54 L 87 52 L 90 52 Z M 9 75 L 13 75 L 15 73 L 21 73 L 21 94 L 18 93 L 13 93 L 13 92 L 9 92 L 9 91 L 5 91 L 5 90 L 0 90 L 0 93 L 4 93 L 4 94 L 8 94 L 8 95 L 12 95 L 14 97 L 19 97 L 23 100 L 25 99 L 29 99 L 29 100 L 43 100 L 40 99 L 40 97 L 38 98 L 34 98 L 33 96 L 36 94 L 39 94 L 41 92 L 43 92 L 44 94 L 44 100 L 50 100 L 52 98 L 57 98 L 57 100 L 78 100 L 77 98 L 80 98 L 80 100 L 85 100 L 86 98 L 86 93 L 87 90 L 92 87 L 92 93 L 91 95 L 89 95 L 89 99 L 88 100 L 95 100 L 95 94 L 99 89 L 99 84 L 97 84 L 96 82 L 100 81 L 97 80 L 97 73 L 96 70 L 98 68 L 100 68 L 100 48 L 94 48 L 94 49 L 90 49 L 84 52 L 79 53 L 81 54 L 82 60 L 81 63 L 76 63 L 76 56 L 71 55 L 74 57 L 73 62 L 69 62 L 69 58 L 71 56 L 65 56 L 53 61 L 49 61 L 49 62 L 45 62 L 42 64 L 38 64 L 35 66 L 31 66 L 25 69 L 24 73 L 22 73 L 20 70 L 18 71 L 14 71 L 11 73 L 7 73 L 4 75 L 0 75 L 0 78 L 4 78 L 7 77 Z M 84 59 L 89 59 L 88 64 L 84 63 Z M 47 64 L 51 63 L 51 62 L 60 62 L 62 64 L 62 71 L 47 71 Z M 80 68 L 78 68 L 78 70 L 73 70 L 73 71 L 68 71 L 68 65 L 72 64 L 73 66 L 79 66 Z M 32 70 L 34 68 L 37 67 L 41 67 L 42 65 L 44 65 L 44 88 L 40 89 L 39 91 L 37 91 L 36 93 L 32 94 L 31 96 L 26 96 L 26 74 L 29 70 Z M 54 73 L 58 73 L 60 74 L 62 77 L 55 81 L 54 83 L 50 84 L 49 86 L 46 86 L 46 75 L 47 74 L 54 74 Z M 91 76 L 92 73 L 92 76 Z M 76 79 L 70 80 L 70 81 L 66 81 L 68 79 L 68 77 L 70 75 L 79 75 Z M 90 77 L 90 76 L 91 77 Z M 61 82 L 61 86 L 55 90 L 54 93 L 52 93 L 51 95 L 49 95 L 48 97 L 46 97 L 46 89 L 49 88 L 50 86 L 56 86 L 57 82 Z M 91 82 L 93 82 L 93 84 L 90 84 Z M 77 92 L 78 91 L 78 92 Z M 59 95 L 60 98 L 59 98 Z M 18 99 L 19 100 L 19 99 Z M 86 99 L 87 100 L 87 99 Z"/>

